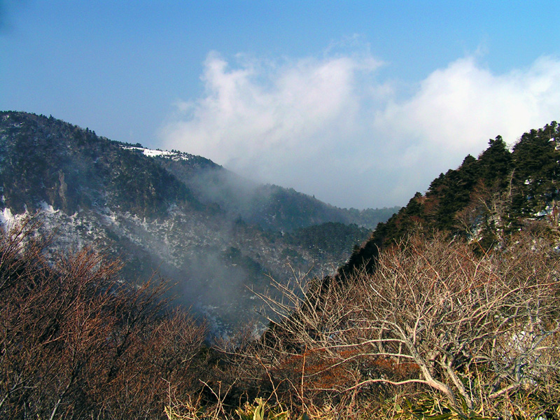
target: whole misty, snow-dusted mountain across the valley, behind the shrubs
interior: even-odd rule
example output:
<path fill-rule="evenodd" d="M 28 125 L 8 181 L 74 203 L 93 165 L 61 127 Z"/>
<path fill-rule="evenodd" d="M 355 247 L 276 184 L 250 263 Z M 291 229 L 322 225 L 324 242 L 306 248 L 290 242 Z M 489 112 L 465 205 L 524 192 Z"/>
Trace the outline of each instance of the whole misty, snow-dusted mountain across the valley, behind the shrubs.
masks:
<path fill-rule="evenodd" d="M 57 250 L 94 244 L 132 283 L 159 272 L 228 333 L 257 316 L 250 289 L 332 273 L 396 209 L 338 209 L 211 160 L 110 141 L 55 118 L 0 113 L 3 223 L 36 214 Z"/>

